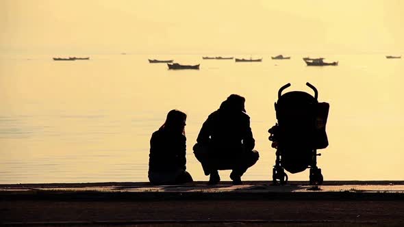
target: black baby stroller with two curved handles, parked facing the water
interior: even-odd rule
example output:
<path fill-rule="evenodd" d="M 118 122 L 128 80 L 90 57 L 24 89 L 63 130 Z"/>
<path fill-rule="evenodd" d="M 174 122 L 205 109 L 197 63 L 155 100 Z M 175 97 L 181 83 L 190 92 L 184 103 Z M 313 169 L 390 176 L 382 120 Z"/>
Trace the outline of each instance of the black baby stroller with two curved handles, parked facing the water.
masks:
<path fill-rule="evenodd" d="M 273 183 L 284 185 L 288 175 L 284 170 L 295 174 L 310 166 L 310 185 L 321 185 L 323 175 L 317 167 L 317 149 L 328 146 L 325 124 L 329 111 L 328 103 L 318 103 L 317 89 L 306 83 L 314 90 L 314 96 L 301 91 L 282 94 L 290 87 L 283 85 L 278 91 L 278 101 L 275 103 L 277 123 L 268 130 L 272 147 L 276 148 L 277 159 L 273 167 Z"/>

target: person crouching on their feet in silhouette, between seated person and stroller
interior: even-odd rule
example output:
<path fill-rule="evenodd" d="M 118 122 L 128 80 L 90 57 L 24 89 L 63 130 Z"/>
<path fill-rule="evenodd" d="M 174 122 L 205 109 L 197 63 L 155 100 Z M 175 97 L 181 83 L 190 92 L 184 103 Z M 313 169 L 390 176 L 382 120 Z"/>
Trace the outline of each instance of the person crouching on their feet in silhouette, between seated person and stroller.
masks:
<path fill-rule="evenodd" d="M 194 155 L 201 162 L 205 175 L 210 174 L 210 185 L 220 181 L 218 170 L 232 170 L 233 184 L 242 184 L 242 174 L 260 157 L 257 150 L 253 150 L 255 140 L 244 103 L 244 97 L 231 94 L 210 114 L 199 132 L 193 147 Z"/>

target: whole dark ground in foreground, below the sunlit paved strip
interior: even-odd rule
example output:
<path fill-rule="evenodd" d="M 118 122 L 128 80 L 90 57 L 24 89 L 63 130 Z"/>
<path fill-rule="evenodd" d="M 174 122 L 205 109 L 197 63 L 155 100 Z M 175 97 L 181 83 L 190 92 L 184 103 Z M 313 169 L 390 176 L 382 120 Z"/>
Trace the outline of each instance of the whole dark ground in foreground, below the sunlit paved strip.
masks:
<path fill-rule="evenodd" d="M 194 187 L 176 187 L 173 192 L 149 191 L 150 186 L 138 184 L 137 192 L 131 192 L 132 187 L 123 192 L 38 191 L 38 185 L 34 185 L 36 189 L 18 191 L 32 185 L 3 185 L 0 225 L 404 226 L 404 193 L 400 185 L 392 187 L 393 192 L 399 189 L 396 193 L 326 189 L 299 192 L 301 187 L 296 187 L 297 191 L 279 192 L 278 187 L 251 185 L 255 189 L 246 187 L 240 192 L 237 187 L 234 191 L 223 191 L 231 185 L 214 190 L 207 187 L 205 192 L 182 191 Z M 41 187 L 46 186 L 51 185 Z M 99 189 L 108 184 L 96 186 Z M 351 187 L 354 186 L 347 188 Z M 389 188 L 366 185 L 370 189 L 379 187 Z M 171 187 L 160 188 L 168 189 Z"/>

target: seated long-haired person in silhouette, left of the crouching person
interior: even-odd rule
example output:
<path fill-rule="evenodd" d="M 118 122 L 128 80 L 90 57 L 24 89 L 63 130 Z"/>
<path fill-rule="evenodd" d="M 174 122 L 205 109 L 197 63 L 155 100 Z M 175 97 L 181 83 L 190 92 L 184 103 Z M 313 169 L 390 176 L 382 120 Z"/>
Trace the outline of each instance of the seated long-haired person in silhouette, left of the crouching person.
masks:
<path fill-rule="evenodd" d="M 186 172 L 186 114 L 173 109 L 166 122 L 151 135 L 149 181 L 153 185 L 192 182 Z"/>

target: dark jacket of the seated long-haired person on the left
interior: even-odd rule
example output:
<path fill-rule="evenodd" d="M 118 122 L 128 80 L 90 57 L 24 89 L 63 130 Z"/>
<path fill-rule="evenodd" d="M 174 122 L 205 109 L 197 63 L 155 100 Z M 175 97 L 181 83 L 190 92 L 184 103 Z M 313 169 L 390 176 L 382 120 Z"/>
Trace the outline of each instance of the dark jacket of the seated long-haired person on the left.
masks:
<path fill-rule="evenodd" d="M 186 170 L 186 137 L 164 129 L 150 139 L 149 171 Z"/>

